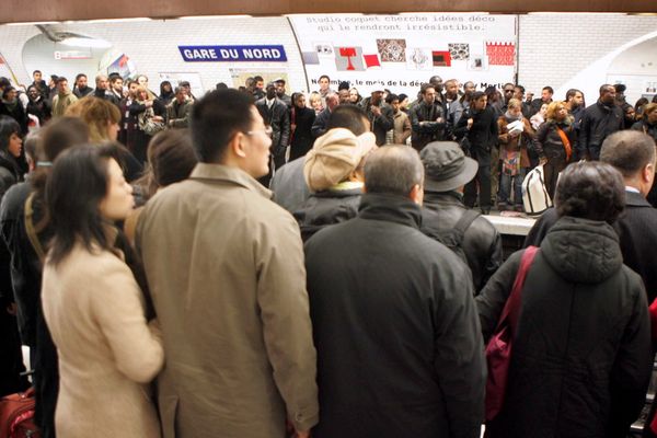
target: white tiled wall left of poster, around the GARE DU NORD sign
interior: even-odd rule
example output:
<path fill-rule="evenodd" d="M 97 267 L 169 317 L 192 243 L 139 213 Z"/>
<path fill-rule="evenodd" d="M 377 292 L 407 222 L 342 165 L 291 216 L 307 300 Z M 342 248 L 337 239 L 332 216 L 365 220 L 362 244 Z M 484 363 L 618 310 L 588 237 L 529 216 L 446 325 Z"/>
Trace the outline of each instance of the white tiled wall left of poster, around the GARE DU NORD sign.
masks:
<path fill-rule="evenodd" d="M 111 42 L 137 64 L 139 73 L 157 78 L 161 71 L 198 72 L 205 90 L 217 82 L 232 85 L 229 68 L 264 71 L 287 71 L 288 90 L 304 90 L 306 77 L 297 42 L 286 18 L 224 18 L 176 20 L 175 32 L 171 21 L 157 20 L 120 23 L 58 24 L 57 30 L 79 32 Z M 31 72 L 22 68 L 22 47 L 25 41 L 37 35 L 33 25 L 0 26 L 0 53 L 15 68 L 19 80 L 30 83 Z M 185 62 L 178 45 L 283 45 L 288 62 Z M 49 71 L 47 66 L 42 68 Z M 89 72 L 93 74 L 95 72 Z M 70 79 L 70 78 L 69 78 Z M 93 81 L 91 81 L 93 82 Z M 151 87 L 157 89 L 155 87 Z M 93 87 L 93 83 L 90 84 Z M 151 82 L 152 85 L 152 82 Z"/>

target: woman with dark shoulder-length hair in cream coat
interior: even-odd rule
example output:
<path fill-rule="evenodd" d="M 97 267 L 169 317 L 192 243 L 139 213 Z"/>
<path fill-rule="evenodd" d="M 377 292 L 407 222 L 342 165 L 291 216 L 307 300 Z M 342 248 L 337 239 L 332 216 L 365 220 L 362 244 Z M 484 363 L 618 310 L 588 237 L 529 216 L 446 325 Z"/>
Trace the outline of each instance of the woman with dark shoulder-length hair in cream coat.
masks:
<path fill-rule="evenodd" d="M 160 437 L 147 384 L 162 368 L 162 341 L 110 226 L 132 208 L 131 192 L 91 146 L 59 157 L 46 185 L 55 235 L 42 299 L 59 354 L 59 438 Z"/>

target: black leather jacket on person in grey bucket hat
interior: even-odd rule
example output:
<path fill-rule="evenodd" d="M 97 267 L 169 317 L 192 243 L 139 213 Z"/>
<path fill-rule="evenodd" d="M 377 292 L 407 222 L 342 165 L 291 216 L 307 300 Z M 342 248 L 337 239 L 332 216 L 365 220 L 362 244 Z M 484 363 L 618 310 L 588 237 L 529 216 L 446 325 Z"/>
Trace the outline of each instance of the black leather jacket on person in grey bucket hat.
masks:
<path fill-rule="evenodd" d="M 466 209 L 459 193 L 425 192 L 420 231 L 430 234 L 431 231 L 452 229 Z M 504 262 L 502 237 L 481 216 L 465 231 L 462 250 L 472 270 L 475 292 L 479 292 Z"/>

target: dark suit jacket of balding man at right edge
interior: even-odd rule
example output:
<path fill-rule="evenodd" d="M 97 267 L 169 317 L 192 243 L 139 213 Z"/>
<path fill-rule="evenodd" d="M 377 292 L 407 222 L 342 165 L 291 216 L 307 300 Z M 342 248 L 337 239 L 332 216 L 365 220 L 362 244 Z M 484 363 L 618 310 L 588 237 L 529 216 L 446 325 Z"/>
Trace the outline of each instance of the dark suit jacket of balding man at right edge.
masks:
<path fill-rule="evenodd" d="M 638 193 L 625 192 L 625 211 L 613 224 L 619 234 L 623 263 L 644 280 L 648 303 L 657 298 L 657 209 Z M 556 210 L 550 208 L 534 223 L 525 240 L 525 246 L 539 245 L 557 221 Z"/>

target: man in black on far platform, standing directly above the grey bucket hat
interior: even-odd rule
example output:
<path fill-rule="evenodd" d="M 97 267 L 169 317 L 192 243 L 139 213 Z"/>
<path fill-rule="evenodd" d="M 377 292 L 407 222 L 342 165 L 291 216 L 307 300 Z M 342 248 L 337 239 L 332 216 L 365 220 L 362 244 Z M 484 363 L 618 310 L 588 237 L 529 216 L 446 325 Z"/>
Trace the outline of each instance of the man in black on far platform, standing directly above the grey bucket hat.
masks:
<path fill-rule="evenodd" d="M 479 163 L 476 177 L 465 185 L 464 204 L 472 208 L 479 188 L 479 205 L 484 215 L 491 211 L 491 151 L 497 145 L 497 118 L 487 106 L 486 94 L 475 91 L 470 107 L 457 124 L 454 135 L 462 139 L 468 136 L 470 155 Z"/>

